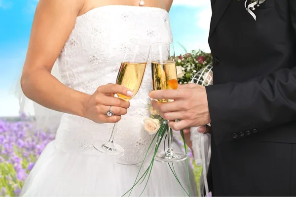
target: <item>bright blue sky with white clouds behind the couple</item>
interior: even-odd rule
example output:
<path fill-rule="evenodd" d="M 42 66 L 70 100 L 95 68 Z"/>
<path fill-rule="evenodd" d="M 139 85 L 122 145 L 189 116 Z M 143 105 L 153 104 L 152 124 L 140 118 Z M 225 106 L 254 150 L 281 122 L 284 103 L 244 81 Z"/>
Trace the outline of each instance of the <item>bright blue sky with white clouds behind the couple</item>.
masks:
<path fill-rule="evenodd" d="M 18 115 L 13 95 L 26 57 L 31 25 L 38 0 L 0 0 L 0 117 Z M 207 38 L 210 26 L 210 0 L 174 0 L 170 20 L 176 55 L 203 49 L 210 52 Z M 31 107 L 28 110 L 32 113 Z"/>

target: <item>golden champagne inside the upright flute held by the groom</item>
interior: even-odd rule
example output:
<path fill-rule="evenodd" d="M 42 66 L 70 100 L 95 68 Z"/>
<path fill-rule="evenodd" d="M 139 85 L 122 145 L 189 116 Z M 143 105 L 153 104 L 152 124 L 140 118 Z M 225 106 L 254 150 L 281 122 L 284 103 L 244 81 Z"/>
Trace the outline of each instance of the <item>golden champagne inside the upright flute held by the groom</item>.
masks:
<path fill-rule="evenodd" d="M 177 78 L 176 63 L 173 61 L 151 62 L 153 90 L 172 90 L 168 81 Z M 159 102 L 172 102 L 173 99 L 159 99 Z"/>

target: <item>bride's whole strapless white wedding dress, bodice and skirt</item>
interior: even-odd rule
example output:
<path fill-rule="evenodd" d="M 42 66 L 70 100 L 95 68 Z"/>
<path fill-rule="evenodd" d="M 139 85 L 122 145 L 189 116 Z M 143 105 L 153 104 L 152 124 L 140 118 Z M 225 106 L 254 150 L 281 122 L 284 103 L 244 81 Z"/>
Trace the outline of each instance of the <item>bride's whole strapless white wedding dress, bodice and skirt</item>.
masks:
<path fill-rule="evenodd" d="M 167 11 L 155 7 L 108 5 L 78 16 L 57 60 L 61 81 L 87 94 L 93 94 L 99 86 L 115 83 L 120 61 L 131 38 L 149 43 L 172 41 Z M 130 101 L 128 114 L 117 126 L 114 142 L 125 149 L 125 155 L 119 158 L 97 152 L 92 146 L 95 140 L 109 139 L 112 124 L 96 124 L 82 117 L 63 114 L 56 139 L 41 153 L 21 196 L 115 197 L 127 192 L 153 137 L 144 130 L 143 123 L 143 119 L 149 116 L 147 105 L 151 90 L 148 64 L 142 86 Z M 161 147 L 160 151 L 163 151 Z M 173 148 L 182 152 L 176 142 Z M 145 164 L 144 169 L 147 166 Z M 174 167 L 187 190 L 186 162 L 176 163 Z M 189 174 L 190 194 L 196 196 L 192 171 Z M 137 185 L 131 196 L 140 196 L 144 186 L 145 182 Z M 154 162 L 142 196 L 186 194 L 168 164 Z"/>

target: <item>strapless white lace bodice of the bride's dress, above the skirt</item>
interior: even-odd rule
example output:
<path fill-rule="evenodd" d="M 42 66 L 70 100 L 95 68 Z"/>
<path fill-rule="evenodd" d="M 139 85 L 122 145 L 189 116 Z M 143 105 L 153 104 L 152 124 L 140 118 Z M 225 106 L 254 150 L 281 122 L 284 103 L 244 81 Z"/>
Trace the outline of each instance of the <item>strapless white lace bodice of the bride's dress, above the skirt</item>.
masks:
<path fill-rule="evenodd" d="M 108 5 L 78 16 L 58 65 L 62 82 L 87 94 L 107 83 L 115 83 L 129 39 L 148 43 L 172 41 L 167 11 L 155 7 Z M 148 117 L 151 68 L 148 64 L 142 86 L 130 101 L 128 114 L 117 126 L 114 142 L 125 149 L 124 163 L 142 161 L 152 139 L 144 130 Z M 92 143 L 108 140 L 112 124 L 96 124 L 82 117 L 64 114 L 56 135 L 56 145 L 65 151 L 99 154 Z"/>

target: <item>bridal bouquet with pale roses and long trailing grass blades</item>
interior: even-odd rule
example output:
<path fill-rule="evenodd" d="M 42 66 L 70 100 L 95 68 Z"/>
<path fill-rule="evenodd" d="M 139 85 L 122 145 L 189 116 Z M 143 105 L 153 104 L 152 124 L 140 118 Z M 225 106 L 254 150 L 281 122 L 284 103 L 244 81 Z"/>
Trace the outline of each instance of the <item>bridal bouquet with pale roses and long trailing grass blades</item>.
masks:
<path fill-rule="evenodd" d="M 177 75 L 178 75 L 178 82 L 179 84 L 187 84 L 191 81 L 193 76 L 198 73 L 200 70 L 204 69 L 207 65 L 212 63 L 212 56 L 209 53 L 205 53 L 201 50 L 198 51 L 191 51 L 191 53 L 186 53 L 184 55 L 180 55 L 176 57 L 176 66 L 177 66 Z M 149 179 L 149 175 L 152 170 L 152 166 L 154 163 L 154 157 L 157 154 L 158 148 L 160 146 L 160 143 L 162 139 L 166 139 L 166 129 L 167 129 L 167 122 L 158 114 L 158 111 L 155 110 L 150 104 L 148 104 L 148 111 L 150 112 L 150 116 L 146 117 L 144 119 L 144 127 L 145 130 L 150 134 L 154 135 L 152 142 L 149 145 L 148 151 L 146 153 L 146 156 L 144 157 L 144 161 L 141 164 L 138 176 L 136 177 L 136 180 L 134 182 L 134 185 L 131 187 L 129 191 L 127 191 L 124 195 L 131 194 L 133 188 L 137 184 L 141 184 L 145 181 L 146 179 L 146 184 Z M 173 132 L 171 130 L 171 132 Z M 175 172 L 174 165 L 173 164 L 168 164 L 172 173 L 174 174 L 175 178 L 177 181 L 180 183 L 180 186 L 182 189 L 185 191 L 185 193 L 190 196 L 190 189 L 189 189 L 189 169 L 188 165 L 191 164 L 191 167 L 194 167 L 194 163 L 192 163 L 193 158 L 192 158 L 192 153 L 189 148 L 186 147 L 185 144 L 185 138 L 184 138 L 184 132 L 180 131 L 174 131 L 174 137 L 175 139 L 179 142 L 180 145 L 184 147 L 184 152 L 188 155 L 188 160 L 187 160 L 187 176 L 188 176 L 188 188 L 185 189 L 182 184 L 180 183 L 178 176 Z M 150 164 L 148 165 L 148 168 L 145 170 L 143 175 L 140 175 L 140 171 L 142 167 L 144 166 L 145 160 L 148 158 L 148 155 L 152 152 L 152 160 Z M 196 166 L 195 166 L 196 167 Z M 195 175 L 196 182 L 199 183 L 198 179 L 200 177 L 200 173 Z M 140 178 L 139 178 L 140 177 Z M 145 187 L 144 187 L 145 190 Z M 124 196 L 123 195 L 123 196 Z M 141 196 L 141 195 L 140 195 Z"/>

